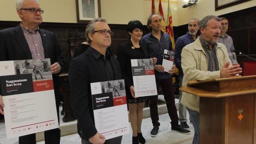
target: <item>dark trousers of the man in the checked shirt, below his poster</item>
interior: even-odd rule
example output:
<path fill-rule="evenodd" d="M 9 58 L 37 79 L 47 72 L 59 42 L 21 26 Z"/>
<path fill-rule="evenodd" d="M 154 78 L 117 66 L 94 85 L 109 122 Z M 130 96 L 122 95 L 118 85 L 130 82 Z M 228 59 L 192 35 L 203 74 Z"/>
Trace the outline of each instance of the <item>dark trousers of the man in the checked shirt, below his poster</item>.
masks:
<path fill-rule="evenodd" d="M 59 102 L 56 102 L 56 108 L 57 108 L 58 122 L 60 124 Z M 60 141 L 61 141 L 61 130 L 59 128 L 45 131 L 45 144 L 59 144 Z M 36 144 L 35 134 L 20 136 L 19 144 Z"/>

